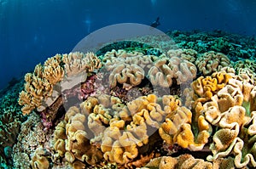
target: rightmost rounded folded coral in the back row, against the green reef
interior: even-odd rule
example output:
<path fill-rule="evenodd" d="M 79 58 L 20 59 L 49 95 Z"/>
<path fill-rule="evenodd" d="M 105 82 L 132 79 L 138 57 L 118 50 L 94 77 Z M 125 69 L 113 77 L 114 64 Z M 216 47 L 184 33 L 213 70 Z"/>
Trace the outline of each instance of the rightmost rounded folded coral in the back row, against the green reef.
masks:
<path fill-rule="evenodd" d="M 201 54 L 199 59 L 195 61 L 195 65 L 206 76 L 221 70 L 225 66 L 229 66 L 230 59 L 224 54 L 210 51 Z"/>

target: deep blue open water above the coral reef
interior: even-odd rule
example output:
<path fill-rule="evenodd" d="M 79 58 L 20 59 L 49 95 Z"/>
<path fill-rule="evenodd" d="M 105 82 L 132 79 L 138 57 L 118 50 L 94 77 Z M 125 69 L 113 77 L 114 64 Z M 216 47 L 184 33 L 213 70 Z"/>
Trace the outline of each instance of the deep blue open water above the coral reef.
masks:
<path fill-rule="evenodd" d="M 118 23 L 256 35 L 255 0 L 0 0 L 0 89 L 86 35 Z"/>

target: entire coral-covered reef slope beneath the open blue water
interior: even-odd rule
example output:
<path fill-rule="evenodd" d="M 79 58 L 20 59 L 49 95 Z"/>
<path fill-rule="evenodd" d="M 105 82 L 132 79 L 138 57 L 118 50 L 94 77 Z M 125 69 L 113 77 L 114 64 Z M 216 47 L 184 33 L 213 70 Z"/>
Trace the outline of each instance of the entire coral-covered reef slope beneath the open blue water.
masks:
<path fill-rule="evenodd" d="M 166 34 L 36 65 L 0 100 L 2 168 L 256 167 L 255 39 Z"/>

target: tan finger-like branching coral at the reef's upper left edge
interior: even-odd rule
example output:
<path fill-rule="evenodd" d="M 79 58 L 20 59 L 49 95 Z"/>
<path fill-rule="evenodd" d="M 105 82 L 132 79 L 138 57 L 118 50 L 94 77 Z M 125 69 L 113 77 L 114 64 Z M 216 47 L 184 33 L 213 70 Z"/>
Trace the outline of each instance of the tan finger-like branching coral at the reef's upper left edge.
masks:
<path fill-rule="evenodd" d="M 25 76 L 25 90 L 21 91 L 19 104 L 23 105 L 23 115 L 33 109 L 44 110 L 53 104 L 61 95 L 60 82 L 65 77 L 78 75 L 82 71 L 88 72 L 102 66 L 100 59 L 93 53 L 56 54 L 47 59 L 44 65 L 36 65 L 33 73 Z M 86 76 L 84 77 L 86 80 Z M 74 85 L 78 84 L 76 82 Z M 65 84 L 62 85 L 64 87 Z"/>

